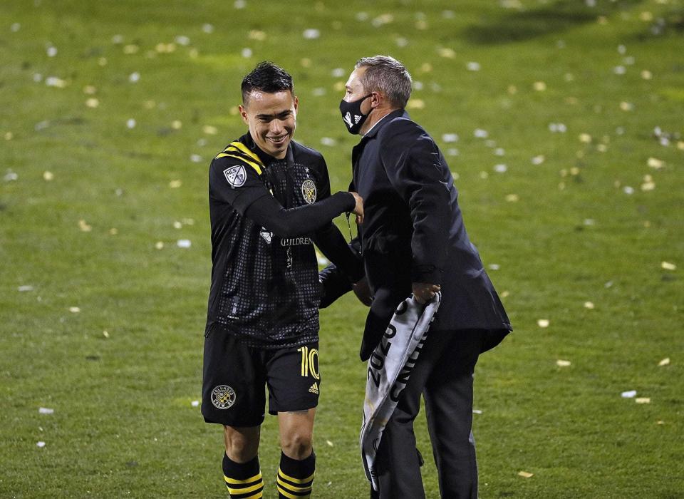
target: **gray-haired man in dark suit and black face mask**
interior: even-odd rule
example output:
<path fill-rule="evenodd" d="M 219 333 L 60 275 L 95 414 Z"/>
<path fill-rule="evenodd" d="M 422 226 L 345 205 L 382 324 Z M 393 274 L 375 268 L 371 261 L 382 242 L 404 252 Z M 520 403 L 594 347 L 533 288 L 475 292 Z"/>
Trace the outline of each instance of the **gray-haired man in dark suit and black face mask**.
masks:
<path fill-rule="evenodd" d="M 361 346 L 366 360 L 397 305 L 442 292 L 423 351 L 378 448 L 380 498 L 423 498 L 413 421 L 425 397 L 444 498 L 477 498 L 472 374 L 477 356 L 511 330 L 468 238 L 444 156 L 404 108 L 406 68 L 388 56 L 362 58 L 340 103 L 351 133 L 353 188 L 364 200 L 361 254 L 373 294 Z M 373 495 L 378 495 L 374 492 Z"/>

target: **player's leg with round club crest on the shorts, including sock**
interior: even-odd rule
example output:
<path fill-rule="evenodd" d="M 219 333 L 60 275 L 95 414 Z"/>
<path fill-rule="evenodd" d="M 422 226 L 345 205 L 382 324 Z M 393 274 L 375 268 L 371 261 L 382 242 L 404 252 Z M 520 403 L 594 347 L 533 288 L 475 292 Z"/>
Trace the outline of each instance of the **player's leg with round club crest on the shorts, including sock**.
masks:
<path fill-rule="evenodd" d="M 204 339 L 202 415 L 224 426 L 224 483 L 232 498 L 261 498 L 259 428 L 264 421 L 265 374 L 259 351 L 219 329 Z"/>

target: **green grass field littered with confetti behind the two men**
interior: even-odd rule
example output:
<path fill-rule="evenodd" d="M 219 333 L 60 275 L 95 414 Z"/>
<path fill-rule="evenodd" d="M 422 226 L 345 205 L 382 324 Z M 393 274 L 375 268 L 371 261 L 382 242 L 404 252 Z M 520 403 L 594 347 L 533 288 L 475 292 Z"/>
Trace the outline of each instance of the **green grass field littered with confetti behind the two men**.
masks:
<path fill-rule="evenodd" d="M 0 497 L 226 497 L 192 404 L 209 160 L 270 59 L 346 189 L 341 85 L 389 53 L 514 324 L 476 372 L 480 496 L 684 498 L 684 1 L 5 0 L 0 19 Z M 353 297 L 321 314 L 319 498 L 368 493 L 364 319 Z M 437 498 L 431 458 L 423 476 Z"/>

